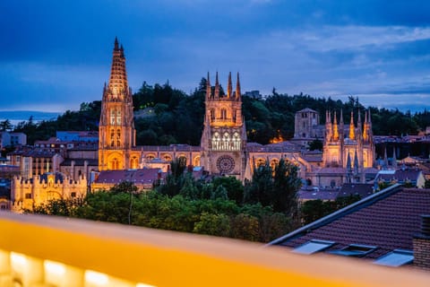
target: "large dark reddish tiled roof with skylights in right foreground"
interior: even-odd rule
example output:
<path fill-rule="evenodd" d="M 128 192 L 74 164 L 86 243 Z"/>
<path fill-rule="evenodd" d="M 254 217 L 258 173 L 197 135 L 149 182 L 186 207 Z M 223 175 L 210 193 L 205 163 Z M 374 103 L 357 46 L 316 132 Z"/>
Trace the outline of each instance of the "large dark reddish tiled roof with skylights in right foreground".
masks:
<path fill-rule="evenodd" d="M 336 250 L 349 244 L 377 247 L 366 258 L 377 258 L 396 248 L 412 250 L 413 236 L 420 231 L 422 214 L 430 214 L 430 190 L 384 189 L 276 239 L 270 245 L 297 248 L 311 239 L 334 241 Z"/>

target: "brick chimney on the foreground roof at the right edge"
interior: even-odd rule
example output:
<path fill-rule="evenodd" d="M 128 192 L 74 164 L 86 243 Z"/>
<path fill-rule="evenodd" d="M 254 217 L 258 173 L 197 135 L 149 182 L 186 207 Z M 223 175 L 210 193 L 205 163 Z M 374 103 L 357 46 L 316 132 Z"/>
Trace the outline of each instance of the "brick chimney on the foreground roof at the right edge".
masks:
<path fill-rule="evenodd" d="M 430 271 L 430 215 L 421 215 L 421 233 L 414 236 L 414 266 Z"/>

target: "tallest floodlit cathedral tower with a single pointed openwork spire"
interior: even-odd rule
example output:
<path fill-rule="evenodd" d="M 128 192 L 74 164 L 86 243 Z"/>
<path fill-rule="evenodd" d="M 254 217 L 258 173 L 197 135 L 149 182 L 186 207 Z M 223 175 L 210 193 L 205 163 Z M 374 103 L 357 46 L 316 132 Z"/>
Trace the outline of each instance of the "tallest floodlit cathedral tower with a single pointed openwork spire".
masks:
<path fill-rule="evenodd" d="M 136 169 L 139 155 L 133 154 L 134 145 L 132 90 L 127 83 L 124 48 L 115 39 L 110 79 L 101 101 L 99 171 Z"/>

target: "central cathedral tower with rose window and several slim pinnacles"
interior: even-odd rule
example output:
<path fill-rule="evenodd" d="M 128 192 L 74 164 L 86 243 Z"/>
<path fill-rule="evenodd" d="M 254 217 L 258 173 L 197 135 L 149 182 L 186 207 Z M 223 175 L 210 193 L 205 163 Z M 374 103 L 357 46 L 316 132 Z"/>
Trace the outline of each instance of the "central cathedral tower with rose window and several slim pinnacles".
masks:
<path fill-rule="evenodd" d="M 233 92 L 231 73 L 228 74 L 227 94 L 221 94 L 218 73 L 212 92 L 208 73 L 205 117 L 202 133 L 201 164 L 211 174 L 231 175 L 243 179 L 245 175 L 245 121 L 242 117 L 242 97 L 239 74 Z"/>

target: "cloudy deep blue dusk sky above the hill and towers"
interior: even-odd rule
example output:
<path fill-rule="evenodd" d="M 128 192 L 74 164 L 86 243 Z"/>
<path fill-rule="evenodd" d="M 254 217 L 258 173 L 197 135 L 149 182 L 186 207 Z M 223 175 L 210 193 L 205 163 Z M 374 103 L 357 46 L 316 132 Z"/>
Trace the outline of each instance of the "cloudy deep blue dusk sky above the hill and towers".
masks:
<path fill-rule="evenodd" d="M 117 36 L 129 84 L 187 93 L 207 72 L 242 91 L 430 109 L 428 1 L 1 1 L 0 110 L 101 100 Z"/>

